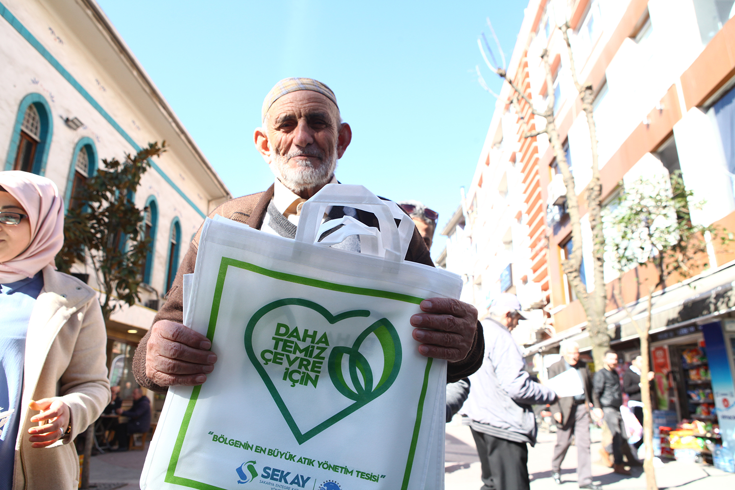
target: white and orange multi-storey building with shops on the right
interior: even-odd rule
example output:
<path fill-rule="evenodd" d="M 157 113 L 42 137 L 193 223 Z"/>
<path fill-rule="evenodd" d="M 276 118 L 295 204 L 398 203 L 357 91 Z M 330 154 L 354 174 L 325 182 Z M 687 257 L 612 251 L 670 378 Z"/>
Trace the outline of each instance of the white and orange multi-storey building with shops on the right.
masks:
<path fill-rule="evenodd" d="M 545 109 L 550 93 L 555 96 L 556 126 L 576 181 L 582 215 L 583 279 L 592 277 L 592 232 L 584 201 L 592 152 L 558 26 L 569 22 L 579 81 L 595 90 L 603 202 L 612 201 L 639 176 L 669 176 L 681 170 L 693 201 L 706 201 L 702 209 L 692 212 L 692 221 L 732 231 L 734 16 L 731 0 L 528 3 L 508 71 L 536 109 Z M 548 50 L 551 62 L 551 87 L 545 79 L 543 50 Z M 548 364 L 545 357 L 558 352 L 563 339 L 576 340 L 583 352 L 591 349 L 591 342 L 584 310 L 562 271 L 562 260 L 571 248 L 566 188 L 548 138 L 522 134 L 542 129 L 545 120 L 530 114 L 527 105 L 509 104 L 508 84 L 499 95 L 472 184 L 462 199 L 465 226 L 445 229 L 445 234 L 452 235 L 446 264 L 448 268 L 465 266 L 458 272 L 465 274 L 465 289 L 475 292 L 473 297 L 465 296 L 474 298 L 480 310 L 492 295 L 503 291 L 516 292 L 526 307 L 542 306 L 539 321 L 517 336 L 529 364 L 533 361 L 542 371 Z M 457 246 L 460 242 L 465 246 Z M 465 258 L 452 258 L 452 248 Z M 698 382 L 714 389 L 714 405 L 721 405 L 718 414 L 729 413 L 730 405 L 722 405 L 722 400 L 735 397 L 735 255 L 717 242 L 708 246 L 708 255 L 692 276 L 672 280 L 652 298 L 651 353 L 660 385 L 659 408 L 675 410 L 680 418 L 717 419 L 709 411 L 701 413 L 700 406 L 706 403 L 688 402 L 687 392 Z M 623 300 L 638 319 L 645 314 L 651 278 L 647 267 L 628 270 L 621 278 Z M 607 266 L 607 323 L 611 347 L 623 361 L 630 361 L 639 353 L 639 339 L 612 298 L 617 279 L 616 271 Z M 586 284 L 592 290 L 592 281 Z M 723 353 L 717 366 L 709 366 L 713 381 L 695 381 L 687 368 L 687 353 L 700 351 L 706 365 L 708 350 Z M 725 379 L 720 394 L 714 385 L 707 385 L 714 383 L 715 370 Z"/>

